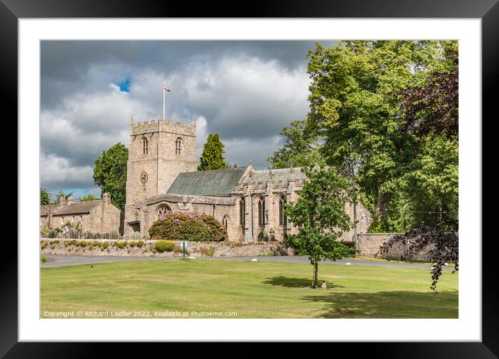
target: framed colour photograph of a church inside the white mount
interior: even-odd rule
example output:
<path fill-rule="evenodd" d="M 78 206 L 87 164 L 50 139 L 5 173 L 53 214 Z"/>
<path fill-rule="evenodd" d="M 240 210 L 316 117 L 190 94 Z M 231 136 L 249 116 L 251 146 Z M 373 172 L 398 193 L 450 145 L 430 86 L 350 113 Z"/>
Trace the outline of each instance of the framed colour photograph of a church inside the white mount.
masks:
<path fill-rule="evenodd" d="M 40 40 L 38 318 L 459 319 L 460 54 Z"/>

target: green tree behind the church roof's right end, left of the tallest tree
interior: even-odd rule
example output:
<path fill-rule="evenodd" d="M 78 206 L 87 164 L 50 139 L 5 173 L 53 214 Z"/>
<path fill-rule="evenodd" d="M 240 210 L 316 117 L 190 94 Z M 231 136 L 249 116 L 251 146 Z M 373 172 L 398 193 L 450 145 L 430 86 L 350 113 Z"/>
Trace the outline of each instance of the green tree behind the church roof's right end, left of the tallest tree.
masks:
<path fill-rule="evenodd" d="M 305 120 L 294 120 L 289 127 L 282 127 L 279 134 L 284 136 L 286 142 L 273 156 L 268 157 L 272 168 L 303 167 L 307 163 L 325 164 L 319 152 L 321 145 L 305 131 L 305 125 Z"/>

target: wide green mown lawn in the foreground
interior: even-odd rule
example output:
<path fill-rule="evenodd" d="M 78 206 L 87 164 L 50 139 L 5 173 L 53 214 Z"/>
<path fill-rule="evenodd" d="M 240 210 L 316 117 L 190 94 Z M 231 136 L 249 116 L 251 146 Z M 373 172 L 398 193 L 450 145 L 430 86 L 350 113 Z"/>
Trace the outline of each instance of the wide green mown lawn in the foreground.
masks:
<path fill-rule="evenodd" d="M 237 312 L 237 318 L 457 318 L 458 273 L 229 260 L 144 260 L 41 269 L 44 312 Z M 82 317 L 86 317 L 83 314 Z M 89 317 L 92 317 L 91 315 Z M 133 317 L 131 314 L 128 317 Z M 188 317 L 192 317 L 189 315 Z"/>

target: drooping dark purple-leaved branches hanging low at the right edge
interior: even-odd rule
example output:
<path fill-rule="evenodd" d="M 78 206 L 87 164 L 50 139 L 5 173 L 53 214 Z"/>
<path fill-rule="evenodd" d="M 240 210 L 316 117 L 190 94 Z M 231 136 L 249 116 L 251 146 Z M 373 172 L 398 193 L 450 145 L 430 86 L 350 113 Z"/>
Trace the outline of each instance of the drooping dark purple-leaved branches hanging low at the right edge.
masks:
<path fill-rule="evenodd" d="M 450 228 L 453 228 L 452 223 L 448 223 Z M 407 253 L 402 256 L 403 260 L 412 260 L 420 250 L 427 246 L 433 246 L 430 250 L 429 256 L 434 264 L 431 267 L 431 290 L 434 294 L 438 279 L 442 275 L 442 269 L 446 264 L 454 263 L 454 271 L 459 271 L 459 235 L 456 228 L 452 232 L 444 232 L 440 225 L 424 225 L 421 223 L 419 227 L 392 237 L 381 246 L 381 252 L 386 253 L 393 246 L 401 246 L 409 243 Z"/>

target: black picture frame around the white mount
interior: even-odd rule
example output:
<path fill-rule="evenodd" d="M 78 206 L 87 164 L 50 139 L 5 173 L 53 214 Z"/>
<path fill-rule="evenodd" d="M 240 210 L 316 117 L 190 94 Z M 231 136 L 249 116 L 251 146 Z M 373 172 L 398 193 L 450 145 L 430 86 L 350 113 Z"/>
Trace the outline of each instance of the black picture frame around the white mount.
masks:
<path fill-rule="evenodd" d="M 137 17 L 386 17 L 386 18 L 479 18 L 482 19 L 482 166 L 495 163 L 495 152 L 491 145 L 493 131 L 484 131 L 484 127 L 493 120 L 492 114 L 498 99 L 499 78 L 499 3 L 498 0 L 337 0 L 307 1 L 279 0 L 272 3 L 245 3 L 244 13 L 236 6 L 228 7 L 222 3 L 206 2 L 192 6 L 186 2 L 153 2 L 130 0 L 80 0 L 80 1 L 29 1 L 0 0 L 0 90 L 3 99 L 3 113 L 10 113 L 10 118 L 17 118 L 17 21 L 22 18 L 137 18 Z M 10 111 L 6 111 L 10 110 Z M 494 115 L 494 119 L 497 115 Z M 487 118 L 488 121 L 484 120 Z M 478 121 L 478 119 L 477 119 Z M 479 123 L 477 123 L 479 125 Z M 15 129 L 14 129 L 15 130 Z M 18 134 L 19 135 L 19 134 Z M 12 137 L 14 138 L 14 136 Z M 486 141 L 489 140 L 489 141 Z M 490 144 L 490 145 L 489 145 Z M 489 149 L 486 146 L 489 145 Z M 489 158 L 488 158 L 489 157 Z M 487 160 L 490 161 L 487 161 Z M 482 173 L 483 175 L 483 173 Z M 10 177 L 3 181 L 10 189 L 18 187 Z M 482 193 L 493 194 L 495 180 L 482 179 Z M 488 185 L 488 186 L 487 186 Z M 489 189 L 487 191 L 486 189 Z M 482 200 L 495 202 L 495 198 Z M 480 210 L 480 209 L 477 209 Z M 482 207 L 482 223 L 494 223 L 492 211 Z M 18 218 L 18 225 L 20 218 Z M 483 229 L 485 229 L 482 226 Z M 482 342 L 424 342 L 424 343 L 357 343 L 355 353 L 365 350 L 374 358 L 497 358 L 499 356 L 499 298 L 498 283 L 493 274 L 496 262 L 496 236 L 486 236 L 477 232 L 477 243 L 482 236 Z M 9 249 L 8 256 L 3 256 L 0 278 L 2 295 L 0 296 L 1 339 L 0 355 L 6 358 L 79 358 L 102 356 L 103 344 L 96 343 L 40 343 L 18 342 L 17 340 L 17 247 Z M 429 328 L 436 332 L 438 328 Z M 119 352 L 128 355 L 137 346 L 130 343 L 113 343 L 113 356 Z M 151 346 L 152 344 L 148 344 Z M 335 343 L 351 350 L 349 343 Z M 197 353 L 188 346 L 190 354 Z M 348 349 L 350 348 L 350 349 Z M 138 348 L 137 348 L 138 349 Z M 151 350 L 151 348 L 148 348 Z M 185 349 L 185 348 L 184 348 Z M 201 349 L 200 353 L 206 350 Z M 312 351 L 316 349 L 310 349 Z"/>

